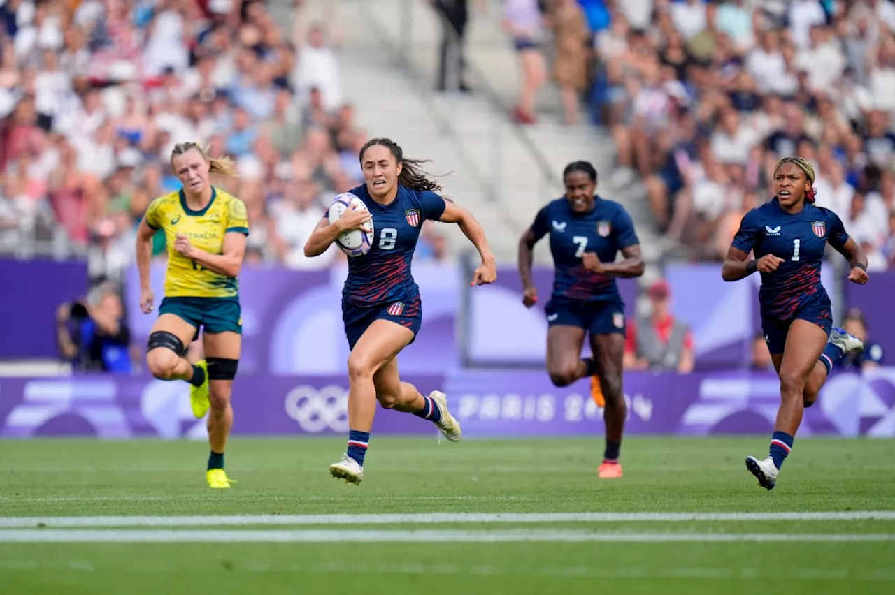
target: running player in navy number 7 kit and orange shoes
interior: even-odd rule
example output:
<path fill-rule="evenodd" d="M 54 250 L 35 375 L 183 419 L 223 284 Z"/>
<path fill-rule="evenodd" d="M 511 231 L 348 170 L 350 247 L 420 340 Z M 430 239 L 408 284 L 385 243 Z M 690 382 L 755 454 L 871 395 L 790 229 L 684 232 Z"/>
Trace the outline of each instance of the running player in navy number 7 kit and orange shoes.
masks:
<path fill-rule="evenodd" d="M 569 163 L 563 171 L 566 196 L 544 206 L 519 241 L 523 303 L 538 299 L 532 284 L 534 245 L 550 234 L 556 266 L 553 295 L 547 303 L 547 372 L 556 386 L 591 376 L 591 390 L 604 406 L 606 449 L 597 475 L 621 477 L 618 453 L 627 404 L 622 392 L 625 355 L 625 304 L 616 277 L 644 274 L 644 259 L 634 222 L 625 207 L 596 195 L 597 171 L 591 163 Z M 618 251 L 624 260 L 616 263 Z M 590 335 L 592 357 L 581 358 Z"/>

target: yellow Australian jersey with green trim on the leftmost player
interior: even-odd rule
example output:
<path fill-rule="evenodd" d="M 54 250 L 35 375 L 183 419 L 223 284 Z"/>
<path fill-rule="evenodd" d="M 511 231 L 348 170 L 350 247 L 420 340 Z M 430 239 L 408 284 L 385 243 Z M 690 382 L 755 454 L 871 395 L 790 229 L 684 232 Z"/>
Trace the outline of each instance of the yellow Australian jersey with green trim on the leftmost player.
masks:
<path fill-rule="evenodd" d="M 193 263 L 174 248 L 178 233 L 192 245 L 210 254 L 223 254 L 224 235 L 234 231 L 249 235 L 245 204 L 237 197 L 216 188 L 201 211 L 186 205 L 183 190 L 158 197 L 149 203 L 146 224 L 153 230 L 165 230 L 168 264 L 165 277 L 166 298 L 237 298 L 239 282 Z"/>

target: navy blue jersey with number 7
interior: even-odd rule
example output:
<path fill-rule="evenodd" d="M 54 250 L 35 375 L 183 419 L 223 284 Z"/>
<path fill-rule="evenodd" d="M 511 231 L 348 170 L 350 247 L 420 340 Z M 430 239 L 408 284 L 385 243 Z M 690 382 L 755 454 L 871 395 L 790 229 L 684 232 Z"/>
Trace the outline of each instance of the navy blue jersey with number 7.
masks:
<path fill-rule="evenodd" d="M 601 197 L 589 213 L 575 213 L 565 197 L 551 201 L 534 218 L 532 233 L 535 241 L 550 234 L 553 298 L 569 301 L 618 298 L 615 277 L 588 271 L 581 256 L 596 252 L 602 263 L 614 263 L 619 250 L 640 243 L 625 207 Z"/>

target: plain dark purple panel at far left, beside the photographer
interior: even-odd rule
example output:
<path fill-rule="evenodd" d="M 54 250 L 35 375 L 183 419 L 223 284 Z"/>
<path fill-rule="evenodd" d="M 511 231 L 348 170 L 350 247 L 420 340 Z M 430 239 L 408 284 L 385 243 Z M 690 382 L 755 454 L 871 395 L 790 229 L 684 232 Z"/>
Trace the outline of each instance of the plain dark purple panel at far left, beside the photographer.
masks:
<path fill-rule="evenodd" d="M 55 357 L 56 309 L 87 294 L 87 263 L 0 260 L 0 358 Z"/>

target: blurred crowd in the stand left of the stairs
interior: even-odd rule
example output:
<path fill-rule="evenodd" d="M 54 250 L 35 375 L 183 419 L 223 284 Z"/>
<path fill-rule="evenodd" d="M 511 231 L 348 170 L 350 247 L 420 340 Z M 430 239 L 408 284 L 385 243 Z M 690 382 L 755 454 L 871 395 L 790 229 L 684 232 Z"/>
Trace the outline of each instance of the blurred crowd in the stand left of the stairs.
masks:
<path fill-rule="evenodd" d="M 343 95 L 337 23 L 295 4 L 284 30 L 256 0 L 5 0 L 0 253 L 61 237 L 91 277 L 120 280 L 149 201 L 179 188 L 171 148 L 196 140 L 237 161 L 238 178 L 215 183 L 247 205 L 249 262 L 339 258 L 303 245 L 325 197 L 362 179 L 367 138 Z M 444 242 L 424 252 L 443 257 Z"/>

